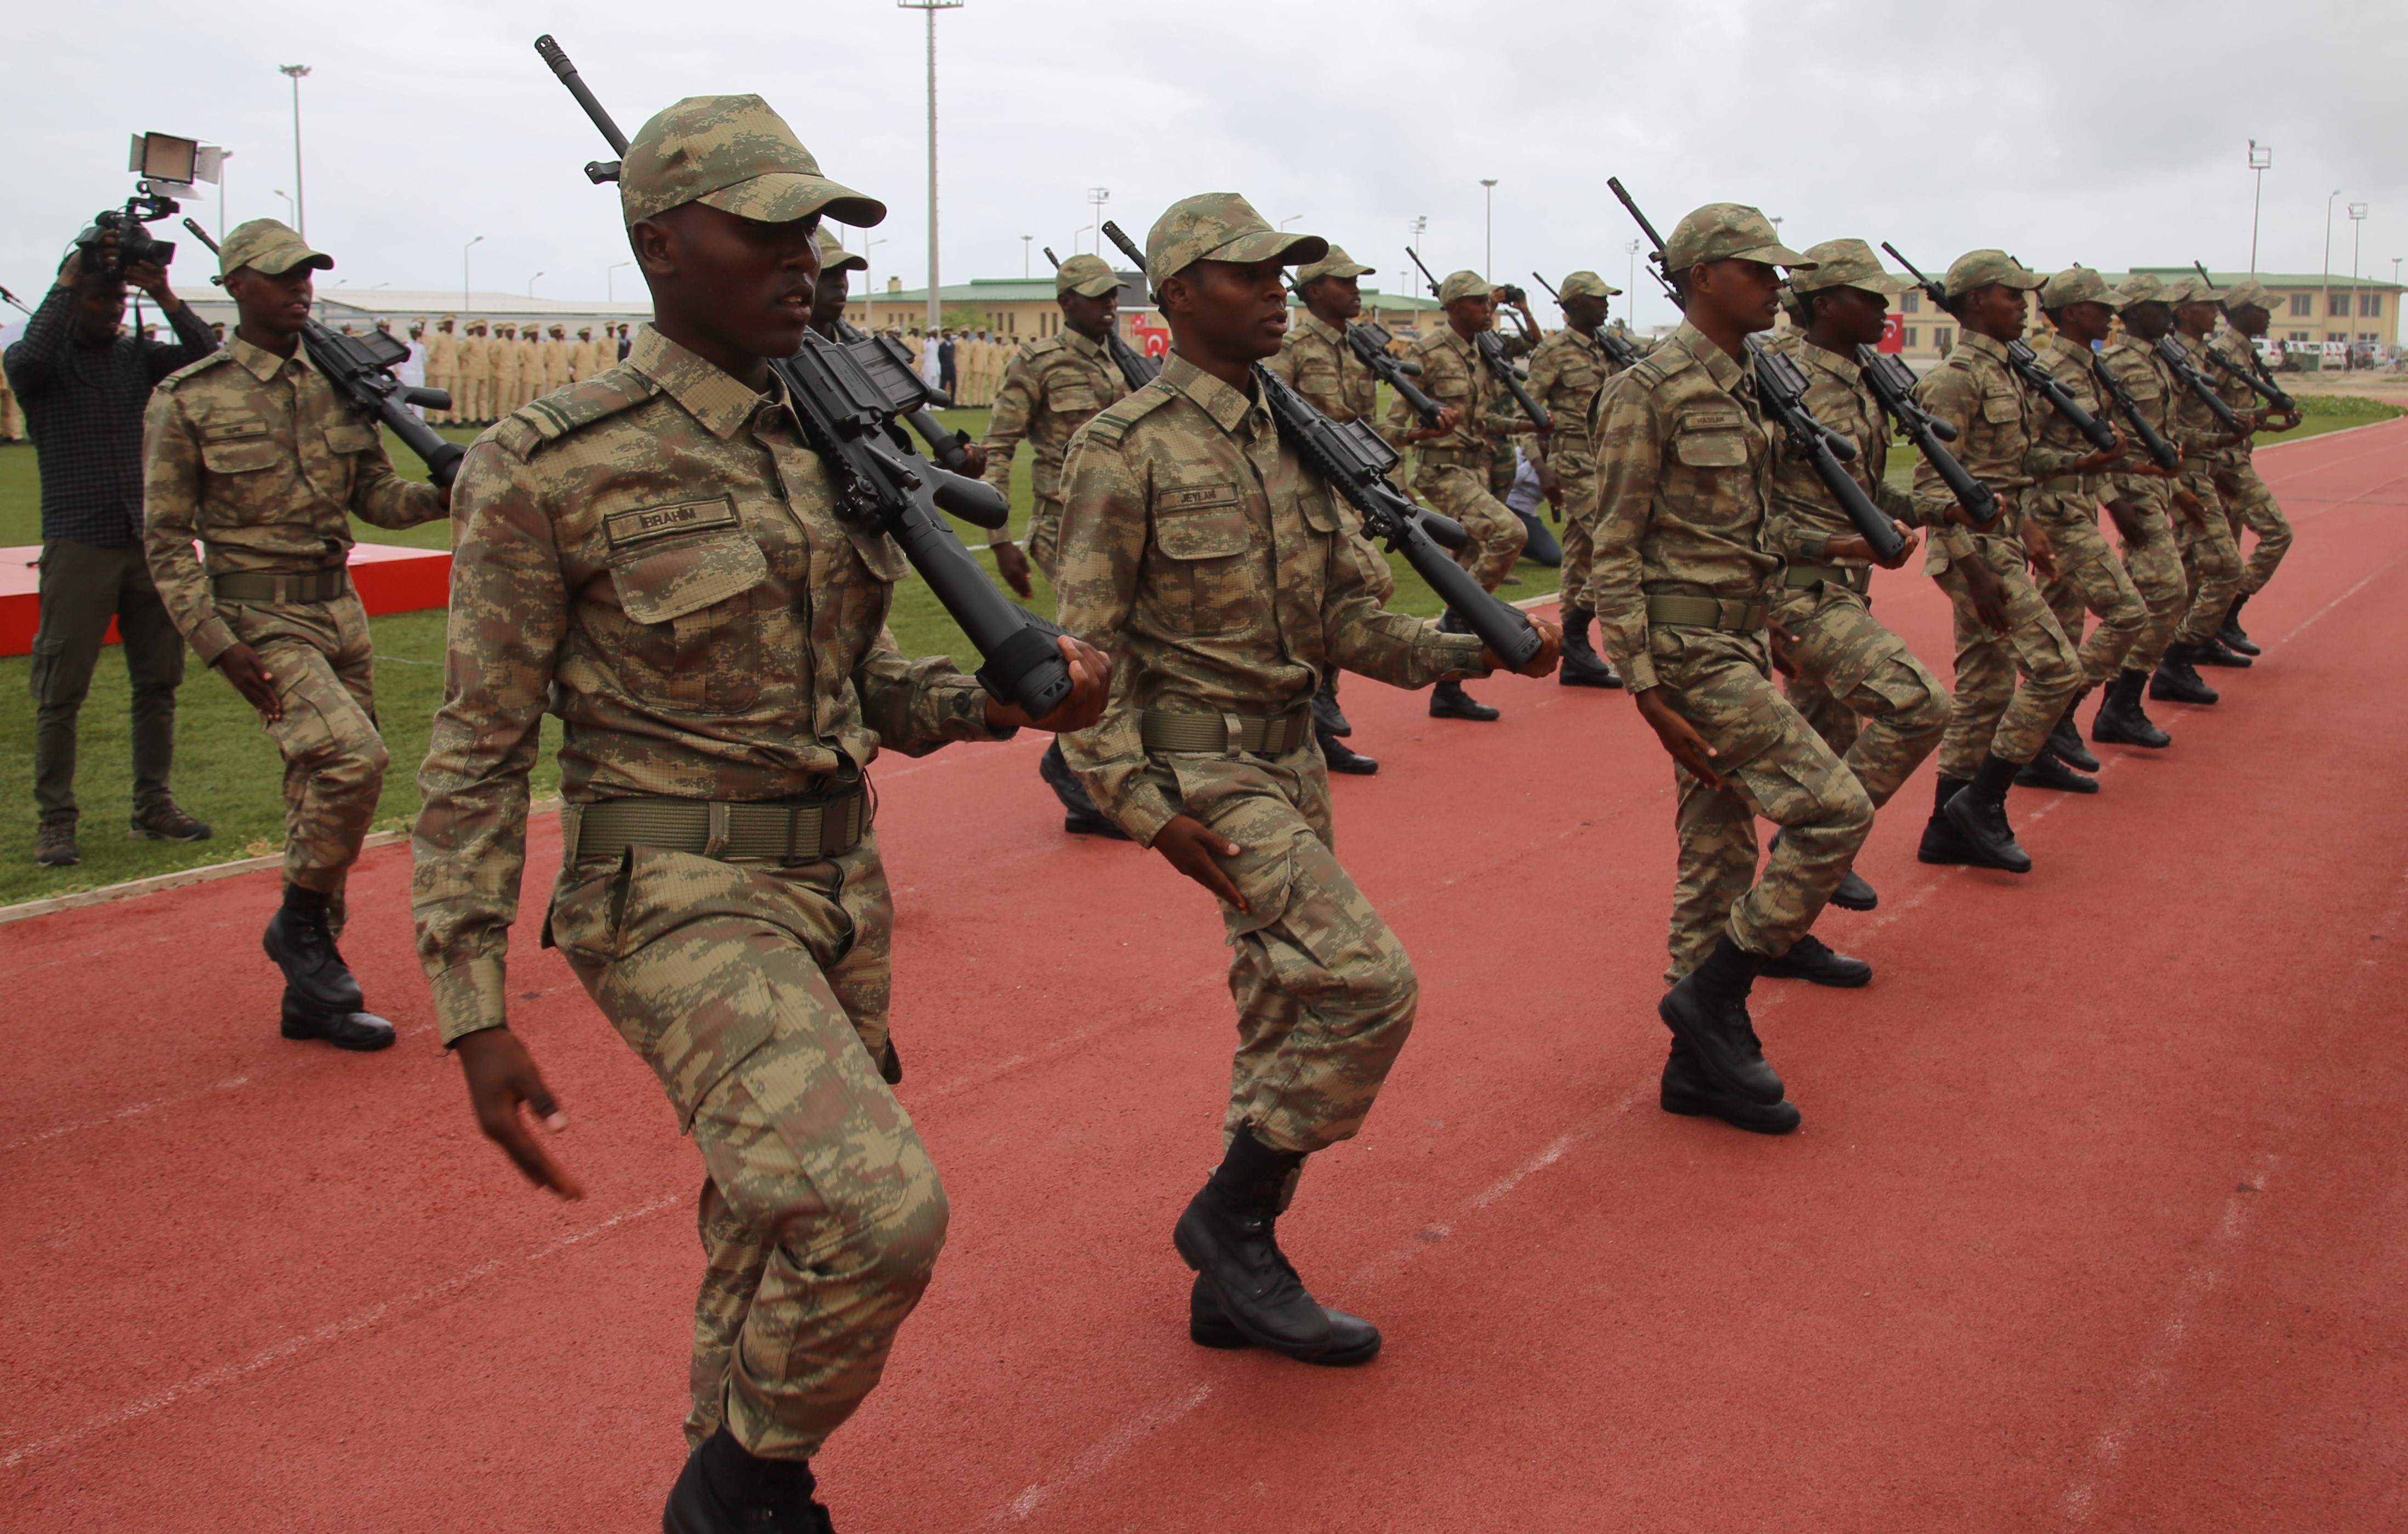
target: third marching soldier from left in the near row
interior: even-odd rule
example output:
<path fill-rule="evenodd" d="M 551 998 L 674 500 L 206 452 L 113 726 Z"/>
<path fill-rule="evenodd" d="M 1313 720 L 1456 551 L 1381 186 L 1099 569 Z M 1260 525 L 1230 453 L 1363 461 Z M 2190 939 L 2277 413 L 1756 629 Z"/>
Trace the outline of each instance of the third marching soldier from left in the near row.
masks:
<path fill-rule="evenodd" d="M 1746 337 L 1772 328 L 1775 267 L 1808 262 L 1739 202 L 1690 212 L 1662 258 L 1683 320 L 1597 397 L 1589 568 L 1597 638 L 1674 759 L 1678 792 L 1671 990 L 1657 1004 L 1674 1043 L 1659 1101 L 1787 1134 L 1799 1110 L 1765 1062 L 1748 992 L 1765 961 L 1813 930 L 1873 826 L 1854 773 L 1770 679 L 1772 438 L 1743 356 Z M 1760 877 L 1758 814 L 1782 828 Z"/>

